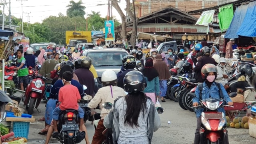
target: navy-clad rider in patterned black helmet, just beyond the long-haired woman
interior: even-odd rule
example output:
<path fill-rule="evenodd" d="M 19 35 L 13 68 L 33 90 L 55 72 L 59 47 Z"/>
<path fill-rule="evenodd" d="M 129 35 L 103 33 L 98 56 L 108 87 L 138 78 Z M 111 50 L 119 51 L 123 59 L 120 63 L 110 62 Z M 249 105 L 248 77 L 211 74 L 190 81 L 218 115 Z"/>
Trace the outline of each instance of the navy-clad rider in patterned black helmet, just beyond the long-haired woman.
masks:
<path fill-rule="evenodd" d="M 117 86 L 120 88 L 124 88 L 124 82 L 123 82 L 124 76 L 128 72 L 134 70 L 134 68 L 136 67 L 136 60 L 134 56 L 127 55 L 123 57 L 122 64 L 125 71 L 120 73 L 119 77 L 117 77 L 118 78 Z"/>

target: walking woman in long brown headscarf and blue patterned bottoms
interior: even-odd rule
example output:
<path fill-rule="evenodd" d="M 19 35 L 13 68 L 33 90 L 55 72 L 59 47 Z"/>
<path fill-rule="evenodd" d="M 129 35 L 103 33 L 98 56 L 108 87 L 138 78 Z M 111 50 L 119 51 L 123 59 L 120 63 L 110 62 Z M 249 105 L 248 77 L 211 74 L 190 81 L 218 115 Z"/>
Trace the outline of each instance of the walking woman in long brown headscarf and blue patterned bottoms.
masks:
<path fill-rule="evenodd" d="M 161 101 L 165 102 L 164 96 L 166 96 L 167 80 L 170 78 L 171 74 L 168 70 L 166 63 L 162 60 L 161 54 L 156 55 L 156 62 L 154 63 L 154 68 L 157 70 L 159 74 Z"/>

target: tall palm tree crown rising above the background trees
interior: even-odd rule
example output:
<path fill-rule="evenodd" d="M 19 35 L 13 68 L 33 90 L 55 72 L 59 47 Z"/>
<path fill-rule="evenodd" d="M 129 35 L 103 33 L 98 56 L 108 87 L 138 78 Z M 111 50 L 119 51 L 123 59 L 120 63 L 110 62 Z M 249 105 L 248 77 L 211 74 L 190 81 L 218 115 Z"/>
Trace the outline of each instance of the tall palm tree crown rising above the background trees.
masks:
<path fill-rule="evenodd" d="M 81 16 L 84 18 L 85 11 L 84 9 L 86 8 L 85 6 L 82 6 L 83 2 L 82 0 L 79 0 L 79 2 L 74 2 L 74 0 L 71 0 L 66 6 L 67 11 L 67 16 L 68 17 L 74 17 L 74 16 Z"/>

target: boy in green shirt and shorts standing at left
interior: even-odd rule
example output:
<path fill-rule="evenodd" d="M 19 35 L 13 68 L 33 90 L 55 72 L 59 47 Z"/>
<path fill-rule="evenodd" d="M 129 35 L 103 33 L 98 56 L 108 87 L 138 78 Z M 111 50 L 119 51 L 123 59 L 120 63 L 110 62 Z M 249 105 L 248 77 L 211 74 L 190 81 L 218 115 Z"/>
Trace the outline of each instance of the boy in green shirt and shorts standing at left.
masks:
<path fill-rule="evenodd" d="M 19 83 L 20 83 L 20 89 L 24 90 L 24 85 L 28 85 L 28 68 L 26 65 L 26 59 L 22 56 L 23 50 L 18 49 L 17 50 L 17 70 L 18 70 L 18 77 L 19 77 Z"/>

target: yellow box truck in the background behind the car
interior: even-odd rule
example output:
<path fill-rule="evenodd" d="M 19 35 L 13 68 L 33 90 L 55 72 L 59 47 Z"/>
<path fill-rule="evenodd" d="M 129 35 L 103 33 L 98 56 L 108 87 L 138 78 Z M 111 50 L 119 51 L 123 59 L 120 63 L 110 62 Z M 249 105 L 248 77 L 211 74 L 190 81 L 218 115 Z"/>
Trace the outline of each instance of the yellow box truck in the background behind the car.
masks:
<path fill-rule="evenodd" d="M 66 31 L 66 44 L 74 50 L 76 44 L 92 42 L 91 31 Z"/>

